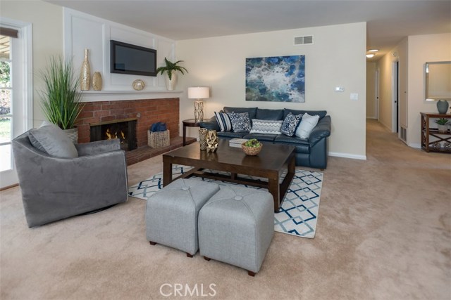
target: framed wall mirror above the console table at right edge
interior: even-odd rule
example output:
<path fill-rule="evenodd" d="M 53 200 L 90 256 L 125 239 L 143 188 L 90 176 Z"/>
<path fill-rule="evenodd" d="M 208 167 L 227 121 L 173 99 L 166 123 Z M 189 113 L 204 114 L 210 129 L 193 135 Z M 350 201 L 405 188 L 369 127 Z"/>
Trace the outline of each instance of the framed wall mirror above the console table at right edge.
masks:
<path fill-rule="evenodd" d="M 451 61 L 426 63 L 426 100 L 451 100 Z"/>

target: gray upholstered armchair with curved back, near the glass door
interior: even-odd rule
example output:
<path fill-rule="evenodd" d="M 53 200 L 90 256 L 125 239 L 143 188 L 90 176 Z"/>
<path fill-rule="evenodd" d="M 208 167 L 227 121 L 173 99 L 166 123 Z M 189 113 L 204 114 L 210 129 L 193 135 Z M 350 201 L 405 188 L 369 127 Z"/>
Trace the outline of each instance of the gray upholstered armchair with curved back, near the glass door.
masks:
<path fill-rule="evenodd" d="M 45 133 L 47 140 L 40 140 L 44 148 L 36 144 L 37 135 L 34 134 L 43 128 L 51 129 Z M 78 144 L 73 150 L 75 155 L 61 157 L 65 155 L 48 148 L 55 148 L 61 141 L 66 143 L 58 130 L 61 131 L 50 126 L 31 129 L 13 140 L 13 154 L 29 227 L 127 201 L 125 153 L 118 139 Z M 74 145 L 69 147 L 72 149 Z"/>

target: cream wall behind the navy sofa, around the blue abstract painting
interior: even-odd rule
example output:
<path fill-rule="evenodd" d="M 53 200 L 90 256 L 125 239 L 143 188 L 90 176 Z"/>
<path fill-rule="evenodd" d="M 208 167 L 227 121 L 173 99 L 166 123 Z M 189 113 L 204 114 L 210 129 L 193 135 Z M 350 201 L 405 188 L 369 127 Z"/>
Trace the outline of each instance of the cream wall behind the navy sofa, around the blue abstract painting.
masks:
<path fill-rule="evenodd" d="M 313 35 L 314 44 L 293 46 L 293 38 Z M 345 42 L 344 42 L 345 41 Z M 225 105 L 240 107 L 327 110 L 332 118 L 331 155 L 365 157 L 366 23 L 310 27 L 297 30 L 240 34 L 178 41 L 177 57 L 190 72 L 179 77 L 178 89 L 210 86 L 204 115 Z M 264 56 L 305 55 L 305 103 L 266 103 L 245 100 L 245 59 Z M 335 86 L 345 92 L 337 93 Z M 358 93 L 359 100 L 350 100 Z M 193 100 L 180 97 L 180 119 L 192 119 Z M 197 136 L 190 129 L 190 136 Z"/>

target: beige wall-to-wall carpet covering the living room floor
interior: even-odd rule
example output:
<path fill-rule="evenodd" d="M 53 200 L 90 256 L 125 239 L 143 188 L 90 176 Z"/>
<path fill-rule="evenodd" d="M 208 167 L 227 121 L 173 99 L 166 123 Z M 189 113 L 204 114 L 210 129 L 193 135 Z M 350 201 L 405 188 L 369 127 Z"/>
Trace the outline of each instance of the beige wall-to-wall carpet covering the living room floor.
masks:
<path fill-rule="evenodd" d="M 165 283 L 197 285 L 193 299 L 450 299 L 451 155 L 368 125 L 366 161 L 329 158 L 316 237 L 275 233 L 255 278 L 150 246 L 142 200 L 29 229 L 20 189 L 4 190 L 0 299 L 189 298 Z M 132 165 L 130 184 L 157 171 L 161 157 Z"/>

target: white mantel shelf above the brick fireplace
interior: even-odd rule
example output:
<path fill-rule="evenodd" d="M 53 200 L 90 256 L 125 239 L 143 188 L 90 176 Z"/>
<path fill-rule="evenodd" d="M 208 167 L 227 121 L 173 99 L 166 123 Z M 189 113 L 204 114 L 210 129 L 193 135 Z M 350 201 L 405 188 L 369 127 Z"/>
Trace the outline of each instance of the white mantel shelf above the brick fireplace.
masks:
<path fill-rule="evenodd" d="M 180 98 L 183 91 L 82 91 L 81 102 Z"/>

